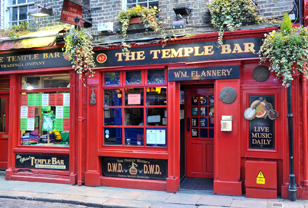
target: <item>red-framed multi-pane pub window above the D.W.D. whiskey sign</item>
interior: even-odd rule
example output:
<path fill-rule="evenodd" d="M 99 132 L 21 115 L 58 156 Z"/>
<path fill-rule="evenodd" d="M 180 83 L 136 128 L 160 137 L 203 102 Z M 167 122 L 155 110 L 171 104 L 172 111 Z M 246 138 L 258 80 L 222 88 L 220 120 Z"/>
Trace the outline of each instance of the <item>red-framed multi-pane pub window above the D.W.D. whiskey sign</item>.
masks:
<path fill-rule="evenodd" d="M 104 145 L 166 147 L 165 70 L 103 73 Z M 114 85 L 110 85 L 111 77 Z"/>

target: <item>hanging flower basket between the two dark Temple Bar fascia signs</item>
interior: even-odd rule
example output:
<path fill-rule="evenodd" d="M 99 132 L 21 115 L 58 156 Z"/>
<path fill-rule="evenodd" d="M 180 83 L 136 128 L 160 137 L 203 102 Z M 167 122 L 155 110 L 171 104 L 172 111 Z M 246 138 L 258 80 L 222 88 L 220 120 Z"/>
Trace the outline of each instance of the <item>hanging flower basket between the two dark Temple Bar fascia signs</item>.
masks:
<path fill-rule="evenodd" d="M 70 30 L 65 40 L 65 52 L 69 55 L 73 69 L 79 74 L 79 78 L 84 81 L 83 75 L 94 76 L 94 52 L 92 47 L 92 36 L 83 28 L 80 30 Z M 64 51 L 64 48 L 62 48 Z"/>

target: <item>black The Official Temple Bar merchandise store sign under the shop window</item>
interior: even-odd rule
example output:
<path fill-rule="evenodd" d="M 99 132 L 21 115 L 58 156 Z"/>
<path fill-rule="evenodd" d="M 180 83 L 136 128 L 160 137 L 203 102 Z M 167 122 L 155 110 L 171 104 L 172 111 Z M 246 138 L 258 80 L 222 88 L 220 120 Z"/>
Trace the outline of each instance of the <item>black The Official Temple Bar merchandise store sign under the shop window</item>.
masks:
<path fill-rule="evenodd" d="M 69 157 L 64 155 L 16 154 L 16 168 L 68 170 Z"/>

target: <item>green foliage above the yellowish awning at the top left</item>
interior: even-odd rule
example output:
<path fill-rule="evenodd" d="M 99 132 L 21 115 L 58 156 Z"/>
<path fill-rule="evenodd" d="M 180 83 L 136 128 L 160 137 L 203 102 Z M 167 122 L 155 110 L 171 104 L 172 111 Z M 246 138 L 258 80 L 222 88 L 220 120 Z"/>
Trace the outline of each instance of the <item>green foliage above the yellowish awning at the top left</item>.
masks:
<path fill-rule="evenodd" d="M 27 22 L 20 22 L 19 25 L 12 25 L 7 30 L 0 30 L 1 37 L 10 37 L 11 39 L 20 38 L 21 35 L 25 35 L 31 32 L 33 25 Z"/>

